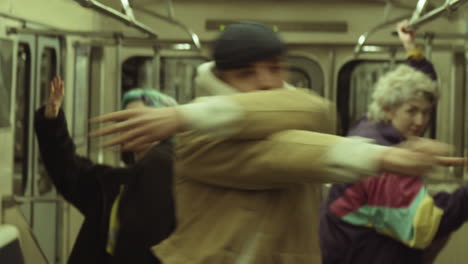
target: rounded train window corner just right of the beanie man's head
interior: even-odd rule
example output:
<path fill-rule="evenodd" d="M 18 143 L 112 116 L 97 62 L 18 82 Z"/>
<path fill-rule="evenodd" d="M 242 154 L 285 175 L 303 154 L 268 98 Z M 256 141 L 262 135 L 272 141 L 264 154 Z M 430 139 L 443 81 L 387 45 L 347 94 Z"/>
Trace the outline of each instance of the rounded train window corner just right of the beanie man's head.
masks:
<path fill-rule="evenodd" d="M 309 88 L 323 95 L 325 77 L 320 65 L 309 58 L 288 56 L 289 67 L 288 82 L 296 87 Z"/>

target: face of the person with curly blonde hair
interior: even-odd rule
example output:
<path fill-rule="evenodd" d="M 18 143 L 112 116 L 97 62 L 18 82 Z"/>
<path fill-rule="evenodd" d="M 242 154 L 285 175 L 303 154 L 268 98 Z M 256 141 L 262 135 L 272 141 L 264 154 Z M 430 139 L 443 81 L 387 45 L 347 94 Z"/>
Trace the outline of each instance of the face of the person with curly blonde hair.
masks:
<path fill-rule="evenodd" d="M 426 98 L 413 99 L 396 109 L 386 111 L 387 120 L 405 138 L 420 137 L 431 119 L 434 105 Z"/>

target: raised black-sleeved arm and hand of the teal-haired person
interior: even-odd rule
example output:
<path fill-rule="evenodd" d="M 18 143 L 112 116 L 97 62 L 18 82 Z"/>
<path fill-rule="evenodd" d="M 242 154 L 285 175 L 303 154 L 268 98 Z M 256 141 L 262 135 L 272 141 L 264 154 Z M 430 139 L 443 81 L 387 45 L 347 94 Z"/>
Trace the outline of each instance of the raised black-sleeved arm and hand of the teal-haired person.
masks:
<path fill-rule="evenodd" d="M 76 154 L 65 115 L 60 110 L 63 96 L 64 84 L 59 78 L 54 78 L 48 102 L 35 113 L 34 127 L 41 157 L 55 187 L 85 214 L 100 192 L 98 176 L 111 168 L 96 165 Z"/>

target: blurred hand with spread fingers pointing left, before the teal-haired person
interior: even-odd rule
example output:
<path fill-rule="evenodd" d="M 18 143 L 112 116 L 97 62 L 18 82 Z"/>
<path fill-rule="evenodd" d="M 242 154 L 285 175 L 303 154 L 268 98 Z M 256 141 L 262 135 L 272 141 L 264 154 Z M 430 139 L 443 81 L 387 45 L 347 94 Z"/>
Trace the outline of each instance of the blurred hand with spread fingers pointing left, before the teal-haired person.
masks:
<path fill-rule="evenodd" d="M 182 131 L 183 122 L 175 107 L 142 107 L 117 111 L 93 118 L 91 122 L 116 123 L 99 129 L 91 136 L 105 136 L 121 133 L 104 147 L 123 144 L 122 151 L 138 151 L 157 141 L 169 138 Z"/>

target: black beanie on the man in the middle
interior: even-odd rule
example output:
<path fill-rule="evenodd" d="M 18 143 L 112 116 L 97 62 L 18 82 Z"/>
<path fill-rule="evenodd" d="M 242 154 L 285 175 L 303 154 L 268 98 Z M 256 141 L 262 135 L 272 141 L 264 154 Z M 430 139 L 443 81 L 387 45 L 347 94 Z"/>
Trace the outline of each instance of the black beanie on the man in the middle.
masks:
<path fill-rule="evenodd" d="M 214 45 L 216 68 L 232 70 L 284 54 L 286 48 L 269 26 L 242 22 L 229 25 Z"/>

